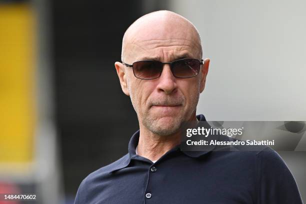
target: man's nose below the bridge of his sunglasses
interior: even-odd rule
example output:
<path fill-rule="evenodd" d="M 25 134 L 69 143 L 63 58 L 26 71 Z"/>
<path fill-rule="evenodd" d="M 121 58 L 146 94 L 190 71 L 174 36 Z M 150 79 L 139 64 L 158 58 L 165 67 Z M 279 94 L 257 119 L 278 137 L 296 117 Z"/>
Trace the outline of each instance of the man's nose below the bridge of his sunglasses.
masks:
<path fill-rule="evenodd" d="M 164 64 L 161 75 L 158 78 L 158 91 L 171 94 L 177 89 L 176 78 L 173 76 L 169 64 Z"/>

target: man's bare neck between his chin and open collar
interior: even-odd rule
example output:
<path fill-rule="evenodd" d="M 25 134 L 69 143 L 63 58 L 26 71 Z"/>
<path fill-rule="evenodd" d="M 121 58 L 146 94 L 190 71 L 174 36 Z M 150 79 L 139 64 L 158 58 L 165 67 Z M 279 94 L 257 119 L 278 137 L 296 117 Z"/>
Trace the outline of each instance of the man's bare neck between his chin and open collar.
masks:
<path fill-rule="evenodd" d="M 192 118 L 197 120 L 197 118 Z M 158 160 L 168 150 L 180 143 L 180 132 L 171 135 L 156 135 L 139 125 L 139 141 L 137 154 L 149 160 Z"/>

